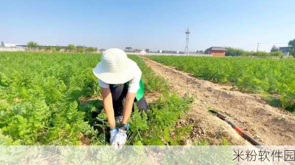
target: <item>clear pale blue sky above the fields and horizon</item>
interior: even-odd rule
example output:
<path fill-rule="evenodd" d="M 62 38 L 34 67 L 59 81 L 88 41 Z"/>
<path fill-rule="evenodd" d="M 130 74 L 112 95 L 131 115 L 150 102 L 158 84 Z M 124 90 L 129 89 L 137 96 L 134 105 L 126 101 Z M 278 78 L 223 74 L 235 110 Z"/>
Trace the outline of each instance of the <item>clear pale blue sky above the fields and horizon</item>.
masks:
<path fill-rule="evenodd" d="M 0 41 L 98 48 L 256 50 L 295 38 L 295 0 L 1 0 Z M 276 44 L 286 46 L 287 44 Z M 269 51 L 272 44 L 261 44 Z"/>

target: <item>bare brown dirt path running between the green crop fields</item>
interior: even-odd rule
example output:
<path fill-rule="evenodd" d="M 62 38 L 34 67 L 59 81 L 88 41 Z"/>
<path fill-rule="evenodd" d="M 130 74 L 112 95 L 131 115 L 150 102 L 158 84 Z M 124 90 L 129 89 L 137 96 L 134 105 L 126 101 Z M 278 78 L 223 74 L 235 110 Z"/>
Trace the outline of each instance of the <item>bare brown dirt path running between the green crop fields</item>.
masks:
<path fill-rule="evenodd" d="M 226 137 L 233 144 L 250 144 L 242 139 L 226 122 L 212 116 L 208 109 L 221 112 L 255 139 L 267 145 L 295 145 L 295 117 L 271 107 L 257 94 L 231 91 L 232 87 L 198 80 L 188 73 L 177 71 L 146 57 L 148 66 L 170 82 L 177 94 L 195 98 L 193 111 L 182 124 L 193 124 L 192 138 L 206 139 L 218 144 Z M 181 124 L 181 122 L 180 122 Z"/>

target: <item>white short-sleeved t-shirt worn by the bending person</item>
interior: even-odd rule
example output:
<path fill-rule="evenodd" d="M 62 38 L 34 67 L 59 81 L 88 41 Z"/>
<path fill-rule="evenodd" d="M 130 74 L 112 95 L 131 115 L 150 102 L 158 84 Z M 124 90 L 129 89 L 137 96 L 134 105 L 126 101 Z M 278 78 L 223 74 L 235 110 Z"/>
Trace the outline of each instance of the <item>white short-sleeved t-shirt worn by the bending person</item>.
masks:
<path fill-rule="evenodd" d="M 139 82 L 141 79 L 141 75 L 142 75 L 142 72 L 137 66 L 136 69 L 134 70 L 134 77 L 131 80 L 129 80 L 129 88 L 128 88 L 129 93 L 137 93 L 140 87 Z M 110 84 L 105 83 L 100 79 L 98 79 L 98 84 L 101 88 L 110 88 Z"/>

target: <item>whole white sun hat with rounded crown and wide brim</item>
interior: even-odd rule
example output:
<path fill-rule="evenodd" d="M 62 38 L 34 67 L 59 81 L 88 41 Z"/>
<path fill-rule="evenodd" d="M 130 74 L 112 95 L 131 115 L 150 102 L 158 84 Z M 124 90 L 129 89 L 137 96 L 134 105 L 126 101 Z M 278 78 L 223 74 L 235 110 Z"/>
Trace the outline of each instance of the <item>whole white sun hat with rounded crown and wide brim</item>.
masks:
<path fill-rule="evenodd" d="M 118 48 L 103 52 L 101 61 L 93 68 L 94 75 L 108 84 L 123 84 L 135 76 L 137 64 Z"/>

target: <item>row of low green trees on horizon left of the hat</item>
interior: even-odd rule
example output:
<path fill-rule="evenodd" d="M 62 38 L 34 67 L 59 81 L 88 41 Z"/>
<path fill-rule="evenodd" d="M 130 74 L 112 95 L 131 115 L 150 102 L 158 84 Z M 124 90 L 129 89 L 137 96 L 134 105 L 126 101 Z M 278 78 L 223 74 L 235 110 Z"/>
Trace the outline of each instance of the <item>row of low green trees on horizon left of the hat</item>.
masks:
<path fill-rule="evenodd" d="M 65 51 L 65 52 L 95 52 L 97 51 L 97 47 L 84 47 L 84 46 L 75 46 L 73 44 L 69 44 L 67 47 L 61 47 L 59 45 L 56 46 L 42 46 L 38 45 L 38 43 L 30 41 L 27 43 L 27 47 L 29 50 L 40 50 L 40 51 Z"/>

